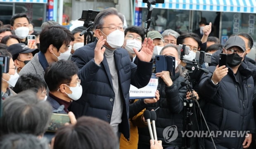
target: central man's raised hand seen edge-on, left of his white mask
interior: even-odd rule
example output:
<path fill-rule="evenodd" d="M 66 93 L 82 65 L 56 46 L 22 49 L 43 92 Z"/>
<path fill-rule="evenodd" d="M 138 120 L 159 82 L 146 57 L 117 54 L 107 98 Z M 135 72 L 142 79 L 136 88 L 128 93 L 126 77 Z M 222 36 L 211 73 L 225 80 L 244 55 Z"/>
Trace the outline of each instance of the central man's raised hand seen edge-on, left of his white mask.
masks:
<path fill-rule="evenodd" d="M 103 36 L 99 38 L 97 41 L 95 50 L 94 50 L 94 61 L 97 65 L 100 65 L 104 58 L 104 52 L 106 50 L 105 47 L 102 48 L 102 46 L 105 44 L 106 39 L 103 39 Z"/>

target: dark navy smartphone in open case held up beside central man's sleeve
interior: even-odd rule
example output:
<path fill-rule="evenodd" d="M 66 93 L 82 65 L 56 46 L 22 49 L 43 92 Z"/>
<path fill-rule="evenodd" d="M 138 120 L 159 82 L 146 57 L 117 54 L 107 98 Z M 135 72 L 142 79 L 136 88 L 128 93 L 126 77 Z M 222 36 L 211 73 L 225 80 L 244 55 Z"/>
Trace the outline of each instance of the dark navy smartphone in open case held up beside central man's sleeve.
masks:
<path fill-rule="evenodd" d="M 173 64 L 173 59 L 174 59 L 174 64 Z M 174 66 L 174 69 L 173 69 L 173 66 Z M 167 55 L 156 55 L 156 73 L 162 72 L 162 71 L 169 71 L 171 76 L 174 75 L 175 57 L 171 57 Z"/>

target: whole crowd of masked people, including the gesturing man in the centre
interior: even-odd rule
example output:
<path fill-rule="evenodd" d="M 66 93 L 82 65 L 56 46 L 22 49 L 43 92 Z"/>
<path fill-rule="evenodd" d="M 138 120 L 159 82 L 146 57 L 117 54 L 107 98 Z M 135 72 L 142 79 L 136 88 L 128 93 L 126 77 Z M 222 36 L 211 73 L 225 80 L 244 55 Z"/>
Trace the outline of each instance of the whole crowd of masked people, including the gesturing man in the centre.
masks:
<path fill-rule="evenodd" d="M 79 35 L 85 27 L 70 31 L 47 21 L 36 32 L 26 14 L 14 14 L 10 25 L 0 27 L 0 57 L 9 58 L 1 81 L 0 149 L 255 147 L 256 62 L 246 56 L 254 43 L 249 34 L 233 34 L 222 45 L 211 37 L 211 23 L 202 22 L 195 34 L 146 33 L 123 22 L 115 8 L 100 11 L 92 43 Z M 35 44 L 28 35 L 35 35 Z M 201 51 L 211 53 L 211 63 L 196 62 Z M 220 54 L 226 55 L 223 66 Z M 157 72 L 156 55 L 173 57 L 174 72 Z M 147 86 L 152 73 L 158 78 L 155 97 L 130 99 L 130 85 Z M 156 112 L 154 140 L 145 110 Z M 59 121 L 54 113 L 69 121 L 49 131 Z M 246 133 L 186 142 L 184 131 Z"/>

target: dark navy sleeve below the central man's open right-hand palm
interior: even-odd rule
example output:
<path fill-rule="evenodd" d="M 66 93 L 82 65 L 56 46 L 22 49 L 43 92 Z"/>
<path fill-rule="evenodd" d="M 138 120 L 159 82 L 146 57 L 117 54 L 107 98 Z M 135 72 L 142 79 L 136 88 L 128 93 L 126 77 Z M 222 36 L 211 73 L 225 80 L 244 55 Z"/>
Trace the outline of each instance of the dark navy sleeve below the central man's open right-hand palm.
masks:
<path fill-rule="evenodd" d="M 142 62 L 138 59 L 138 65 L 130 62 L 131 66 L 131 84 L 137 88 L 145 87 L 152 75 L 153 60 L 150 62 Z"/>

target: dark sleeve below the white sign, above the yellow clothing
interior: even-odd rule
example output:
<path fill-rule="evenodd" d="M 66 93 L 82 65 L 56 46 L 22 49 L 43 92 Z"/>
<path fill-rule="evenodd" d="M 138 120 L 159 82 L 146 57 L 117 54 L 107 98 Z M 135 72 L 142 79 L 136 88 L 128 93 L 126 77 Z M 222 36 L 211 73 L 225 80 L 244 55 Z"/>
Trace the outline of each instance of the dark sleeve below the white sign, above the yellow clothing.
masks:
<path fill-rule="evenodd" d="M 142 111 L 146 107 L 147 107 L 147 104 L 144 103 L 143 99 L 139 99 L 138 101 L 130 104 L 129 105 L 129 118 L 133 118 L 135 115 L 137 115 L 140 111 Z"/>

